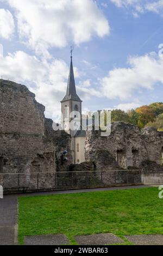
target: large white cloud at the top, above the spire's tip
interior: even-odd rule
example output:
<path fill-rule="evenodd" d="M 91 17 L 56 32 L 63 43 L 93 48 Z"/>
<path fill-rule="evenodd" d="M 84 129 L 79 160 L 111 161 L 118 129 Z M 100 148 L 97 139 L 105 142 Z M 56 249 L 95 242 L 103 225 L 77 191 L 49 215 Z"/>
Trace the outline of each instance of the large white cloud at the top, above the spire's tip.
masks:
<path fill-rule="evenodd" d="M 37 53 L 79 45 L 109 34 L 109 24 L 93 0 L 6 0 L 15 9 L 18 33 Z"/>

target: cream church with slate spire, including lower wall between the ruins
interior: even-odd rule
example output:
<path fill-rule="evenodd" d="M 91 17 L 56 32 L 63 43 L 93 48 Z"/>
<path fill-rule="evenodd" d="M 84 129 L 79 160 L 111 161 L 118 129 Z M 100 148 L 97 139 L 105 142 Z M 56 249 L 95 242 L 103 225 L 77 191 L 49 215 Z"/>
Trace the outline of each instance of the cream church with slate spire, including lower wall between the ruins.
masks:
<path fill-rule="evenodd" d="M 70 72 L 68 76 L 67 91 L 64 99 L 61 100 L 62 112 L 62 129 L 71 135 L 71 154 L 73 163 L 82 163 L 85 161 L 85 139 L 86 133 L 82 131 L 82 100 L 76 92 L 76 83 L 74 80 L 73 64 L 72 64 L 72 51 L 71 47 L 71 63 Z M 71 122 L 73 119 L 75 120 Z M 72 129 L 73 123 L 73 129 Z"/>

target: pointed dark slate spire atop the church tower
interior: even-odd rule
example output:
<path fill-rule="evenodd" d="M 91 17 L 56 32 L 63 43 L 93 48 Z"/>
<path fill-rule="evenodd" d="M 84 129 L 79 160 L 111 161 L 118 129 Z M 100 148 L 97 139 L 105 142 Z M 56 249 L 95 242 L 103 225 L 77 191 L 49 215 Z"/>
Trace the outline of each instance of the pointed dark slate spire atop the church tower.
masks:
<path fill-rule="evenodd" d="M 67 92 L 66 92 L 64 99 L 62 99 L 62 101 L 66 101 L 66 100 L 82 101 L 82 100 L 80 100 L 80 98 L 76 92 L 76 83 L 74 80 L 72 55 L 71 55 L 70 72 L 69 72 L 69 76 L 68 76 Z"/>

